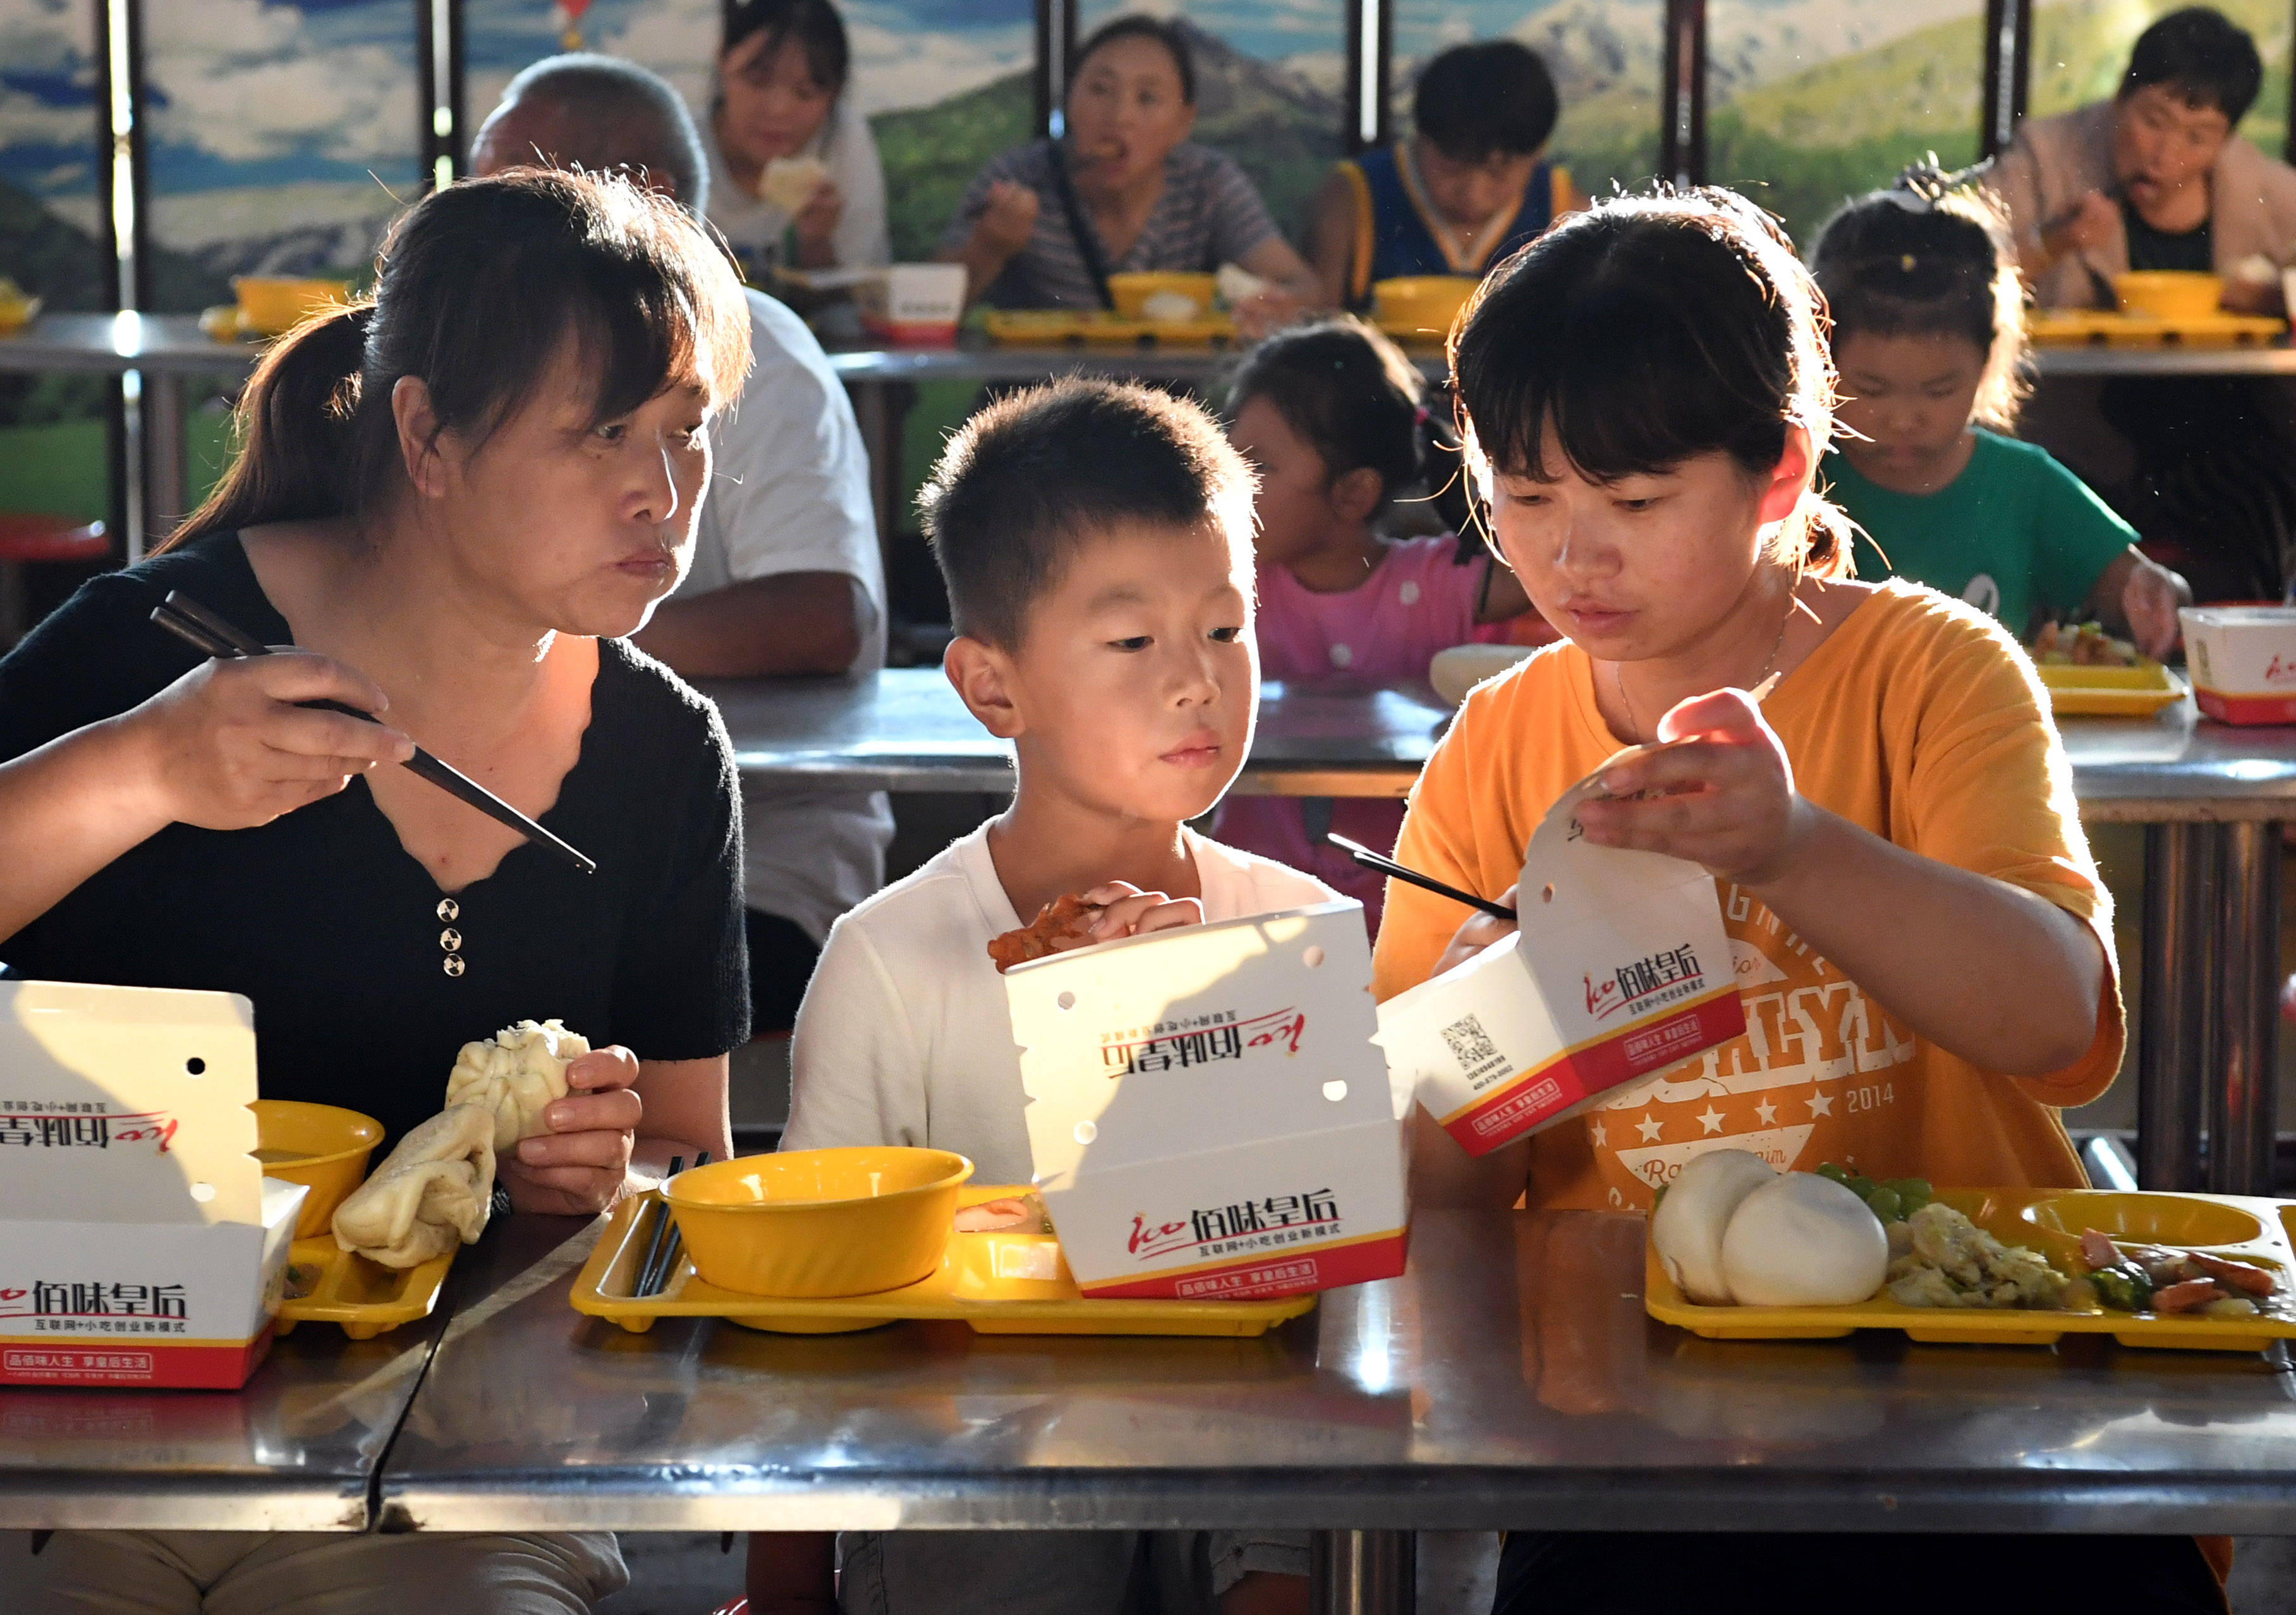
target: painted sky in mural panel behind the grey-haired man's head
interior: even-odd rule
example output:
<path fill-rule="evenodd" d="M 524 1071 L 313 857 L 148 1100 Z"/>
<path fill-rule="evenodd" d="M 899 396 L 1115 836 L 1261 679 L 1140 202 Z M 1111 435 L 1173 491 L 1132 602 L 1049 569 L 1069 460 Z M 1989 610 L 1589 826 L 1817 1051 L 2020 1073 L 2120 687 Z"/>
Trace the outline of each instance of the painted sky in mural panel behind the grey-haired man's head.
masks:
<path fill-rule="evenodd" d="M 854 96 L 868 112 L 932 106 L 1024 71 L 1031 0 L 840 0 L 854 48 Z M 592 50 L 643 62 L 700 108 L 719 37 L 719 0 L 592 0 L 581 18 Z M 558 48 L 551 0 L 466 0 L 468 117 L 482 119 L 503 83 Z"/>

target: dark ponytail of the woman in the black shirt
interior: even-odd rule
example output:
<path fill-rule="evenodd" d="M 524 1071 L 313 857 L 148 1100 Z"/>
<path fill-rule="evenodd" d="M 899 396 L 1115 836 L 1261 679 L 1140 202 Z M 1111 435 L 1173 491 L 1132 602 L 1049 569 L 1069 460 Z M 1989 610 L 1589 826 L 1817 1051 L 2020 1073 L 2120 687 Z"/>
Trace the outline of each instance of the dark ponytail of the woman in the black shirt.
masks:
<path fill-rule="evenodd" d="M 372 319 L 374 303 L 315 314 L 264 353 L 232 411 L 236 457 L 158 548 L 356 507 L 360 369 Z"/>

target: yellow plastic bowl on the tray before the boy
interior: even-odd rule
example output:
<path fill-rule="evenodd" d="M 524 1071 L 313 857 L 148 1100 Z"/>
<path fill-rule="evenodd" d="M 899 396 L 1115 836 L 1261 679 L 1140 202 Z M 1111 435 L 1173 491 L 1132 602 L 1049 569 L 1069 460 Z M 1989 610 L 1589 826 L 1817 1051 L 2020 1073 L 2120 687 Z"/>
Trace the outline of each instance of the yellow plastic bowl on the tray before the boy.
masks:
<path fill-rule="evenodd" d="M 735 1156 L 661 1186 L 705 1282 L 746 1296 L 868 1296 L 928 1278 L 974 1163 L 946 1149 Z"/>

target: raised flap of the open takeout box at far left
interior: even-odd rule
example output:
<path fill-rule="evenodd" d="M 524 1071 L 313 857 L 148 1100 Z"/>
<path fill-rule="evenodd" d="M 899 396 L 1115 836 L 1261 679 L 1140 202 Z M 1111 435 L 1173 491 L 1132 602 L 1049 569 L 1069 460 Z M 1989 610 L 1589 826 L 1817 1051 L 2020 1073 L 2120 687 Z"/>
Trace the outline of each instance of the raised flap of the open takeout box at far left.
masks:
<path fill-rule="evenodd" d="M 255 1094 L 236 993 L 0 982 L 0 1216 L 262 1225 Z"/>

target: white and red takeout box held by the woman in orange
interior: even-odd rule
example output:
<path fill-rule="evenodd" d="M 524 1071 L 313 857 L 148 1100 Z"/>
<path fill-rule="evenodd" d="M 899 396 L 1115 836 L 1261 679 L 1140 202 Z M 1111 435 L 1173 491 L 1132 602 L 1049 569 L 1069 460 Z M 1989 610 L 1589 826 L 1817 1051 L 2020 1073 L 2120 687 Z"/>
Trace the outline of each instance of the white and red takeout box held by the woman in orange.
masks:
<path fill-rule="evenodd" d="M 1531 835 L 1522 929 L 1380 1005 L 1396 1083 L 1469 1156 L 1745 1030 L 1713 876 L 1584 840 L 1577 805 L 1605 796 L 1598 780 Z"/>

